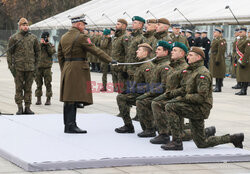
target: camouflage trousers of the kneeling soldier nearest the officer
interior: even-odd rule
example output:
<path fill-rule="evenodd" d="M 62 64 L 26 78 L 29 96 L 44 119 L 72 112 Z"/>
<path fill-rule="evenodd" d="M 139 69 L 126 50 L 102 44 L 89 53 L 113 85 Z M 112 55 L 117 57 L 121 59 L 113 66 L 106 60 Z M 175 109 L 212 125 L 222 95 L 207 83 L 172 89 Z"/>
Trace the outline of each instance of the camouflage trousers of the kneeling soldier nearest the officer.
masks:
<path fill-rule="evenodd" d="M 130 108 L 136 104 L 136 98 L 141 94 L 118 94 L 116 97 L 117 105 L 125 125 L 131 125 Z"/>

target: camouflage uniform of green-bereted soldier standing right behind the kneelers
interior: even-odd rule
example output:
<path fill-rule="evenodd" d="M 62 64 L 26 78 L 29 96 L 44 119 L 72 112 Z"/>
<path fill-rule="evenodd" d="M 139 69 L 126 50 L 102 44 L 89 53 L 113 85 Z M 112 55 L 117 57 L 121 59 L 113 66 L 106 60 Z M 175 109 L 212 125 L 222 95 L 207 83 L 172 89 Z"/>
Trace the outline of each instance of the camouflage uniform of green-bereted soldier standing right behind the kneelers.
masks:
<path fill-rule="evenodd" d="M 126 62 L 132 63 L 136 62 L 136 50 L 138 49 L 138 45 L 145 43 L 145 38 L 142 35 L 142 30 L 135 30 L 131 33 L 128 43 L 128 50 L 126 54 Z M 129 79 L 133 80 L 133 76 L 135 73 L 135 69 L 132 65 L 124 67 L 129 75 Z"/>

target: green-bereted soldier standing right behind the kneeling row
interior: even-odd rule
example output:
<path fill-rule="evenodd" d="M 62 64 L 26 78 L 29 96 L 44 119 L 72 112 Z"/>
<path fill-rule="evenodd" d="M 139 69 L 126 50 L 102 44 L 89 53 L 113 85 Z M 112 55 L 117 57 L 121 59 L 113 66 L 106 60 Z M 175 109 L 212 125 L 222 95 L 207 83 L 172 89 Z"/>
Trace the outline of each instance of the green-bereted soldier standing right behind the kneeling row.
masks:
<path fill-rule="evenodd" d="M 142 29 L 145 24 L 145 19 L 140 16 L 134 16 L 132 18 L 132 28 L 133 32 L 129 38 L 128 50 L 126 54 L 126 62 L 132 63 L 136 62 L 136 50 L 139 44 L 145 42 L 145 37 L 142 34 Z M 133 81 L 135 69 L 133 66 L 125 66 L 124 67 L 128 73 L 129 81 Z"/>

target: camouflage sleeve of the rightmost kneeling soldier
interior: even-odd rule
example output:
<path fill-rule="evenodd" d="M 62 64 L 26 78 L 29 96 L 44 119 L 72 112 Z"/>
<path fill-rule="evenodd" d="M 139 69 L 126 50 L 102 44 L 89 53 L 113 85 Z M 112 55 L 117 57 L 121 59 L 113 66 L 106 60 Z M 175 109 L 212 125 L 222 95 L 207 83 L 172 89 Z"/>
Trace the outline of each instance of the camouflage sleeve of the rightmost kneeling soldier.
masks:
<path fill-rule="evenodd" d="M 206 74 L 198 74 L 195 80 L 195 84 L 197 84 L 196 93 L 186 94 L 184 98 L 190 103 L 202 103 L 209 97 L 212 78 Z"/>

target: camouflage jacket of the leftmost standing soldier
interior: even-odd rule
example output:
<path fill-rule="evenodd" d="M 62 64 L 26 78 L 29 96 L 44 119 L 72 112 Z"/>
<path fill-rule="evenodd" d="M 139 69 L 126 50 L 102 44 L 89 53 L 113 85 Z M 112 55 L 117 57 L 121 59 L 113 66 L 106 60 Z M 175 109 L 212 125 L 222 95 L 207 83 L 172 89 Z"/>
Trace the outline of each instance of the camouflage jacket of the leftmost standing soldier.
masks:
<path fill-rule="evenodd" d="M 8 48 L 11 48 L 7 52 L 9 68 L 14 67 L 19 71 L 35 70 L 40 56 L 40 45 L 34 34 L 19 31 L 11 36 Z"/>

